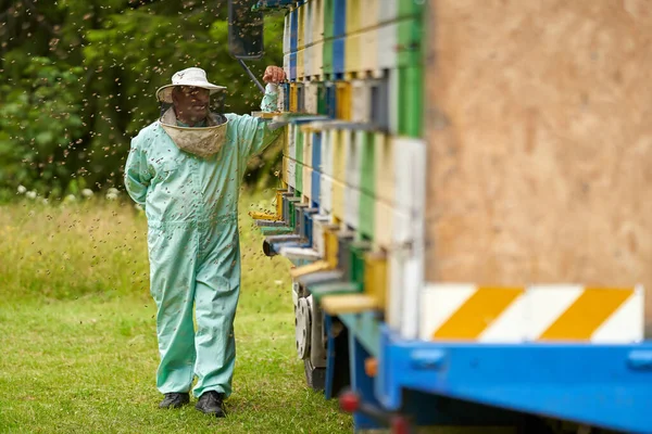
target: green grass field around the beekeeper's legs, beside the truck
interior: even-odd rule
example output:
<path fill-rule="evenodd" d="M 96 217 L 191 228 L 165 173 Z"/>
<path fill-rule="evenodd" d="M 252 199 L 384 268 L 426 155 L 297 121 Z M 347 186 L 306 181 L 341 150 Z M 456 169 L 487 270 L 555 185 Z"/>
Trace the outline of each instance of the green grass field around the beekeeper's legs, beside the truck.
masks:
<path fill-rule="evenodd" d="M 128 203 L 0 207 L 0 432 L 341 433 L 305 386 L 289 264 L 261 253 L 241 201 L 242 288 L 228 417 L 159 410 L 146 221 Z M 193 401 L 192 401 L 193 404 Z"/>

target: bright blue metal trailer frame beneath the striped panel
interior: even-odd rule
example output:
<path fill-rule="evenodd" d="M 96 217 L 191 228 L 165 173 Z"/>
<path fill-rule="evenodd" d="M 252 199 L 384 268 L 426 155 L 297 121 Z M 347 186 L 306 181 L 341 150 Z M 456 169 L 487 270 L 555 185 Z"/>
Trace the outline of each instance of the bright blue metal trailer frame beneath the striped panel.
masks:
<path fill-rule="evenodd" d="M 527 416 L 652 433 L 652 344 L 477 344 L 406 341 L 369 314 L 338 317 L 350 340 L 351 387 L 418 424 L 519 424 Z M 378 372 L 364 371 L 367 357 Z M 448 411 L 410 394 L 449 398 Z M 473 411 L 463 407 L 475 406 Z M 459 408 L 455 408 L 459 407 Z M 491 408 L 493 410 L 491 411 Z M 504 410 L 504 411 L 501 411 Z M 355 414 L 356 429 L 378 426 Z"/>

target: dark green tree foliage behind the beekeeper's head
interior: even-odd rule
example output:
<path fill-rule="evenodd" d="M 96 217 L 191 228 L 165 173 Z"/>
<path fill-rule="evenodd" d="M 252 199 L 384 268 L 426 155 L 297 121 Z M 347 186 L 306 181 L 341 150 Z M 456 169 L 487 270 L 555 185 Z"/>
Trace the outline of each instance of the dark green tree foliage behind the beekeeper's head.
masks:
<path fill-rule="evenodd" d="M 226 0 L 0 0 L 0 17 L 5 192 L 122 187 L 130 138 L 160 114 L 155 90 L 185 67 L 228 87 L 224 111 L 259 110 L 260 91 L 228 53 Z M 281 63 L 281 40 L 283 15 L 266 16 L 256 76 Z"/>

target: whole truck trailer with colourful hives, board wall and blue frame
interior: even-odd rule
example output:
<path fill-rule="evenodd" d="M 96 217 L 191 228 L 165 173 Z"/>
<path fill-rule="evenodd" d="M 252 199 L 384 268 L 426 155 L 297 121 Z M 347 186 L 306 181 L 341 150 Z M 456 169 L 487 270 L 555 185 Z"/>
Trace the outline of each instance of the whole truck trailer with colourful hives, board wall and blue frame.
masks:
<path fill-rule="evenodd" d="M 378 410 L 359 427 L 650 432 L 645 3 L 280 3 L 292 120 L 261 226 L 297 265 L 309 379 L 350 380 Z"/>

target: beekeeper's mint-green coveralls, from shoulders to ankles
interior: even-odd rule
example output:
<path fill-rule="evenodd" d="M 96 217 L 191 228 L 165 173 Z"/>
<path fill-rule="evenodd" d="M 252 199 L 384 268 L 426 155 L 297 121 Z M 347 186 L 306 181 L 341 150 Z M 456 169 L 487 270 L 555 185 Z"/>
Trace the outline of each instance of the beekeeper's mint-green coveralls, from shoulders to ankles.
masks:
<path fill-rule="evenodd" d="M 266 93 L 261 107 L 276 106 Z M 283 128 L 226 114 L 226 143 L 201 158 L 180 151 L 159 122 L 131 141 L 125 187 L 148 220 L 150 291 L 156 303 L 161 393 L 216 391 L 228 397 L 236 358 L 240 293 L 238 192 L 249 157 Z M 192 322 L 195 304 L 197 332 Z"/>

